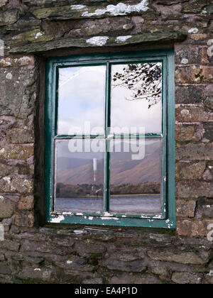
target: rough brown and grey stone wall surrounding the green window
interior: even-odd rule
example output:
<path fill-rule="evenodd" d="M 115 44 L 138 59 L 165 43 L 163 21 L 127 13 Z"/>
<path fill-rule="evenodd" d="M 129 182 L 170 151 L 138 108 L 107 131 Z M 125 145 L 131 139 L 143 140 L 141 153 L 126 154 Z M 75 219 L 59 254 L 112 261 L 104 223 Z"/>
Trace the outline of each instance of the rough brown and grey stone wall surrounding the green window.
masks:
<path fill-rule="evenodd" d="M 212 13 L 212 0 L 0 0 L 0 283 L 213 283 Z M 43 226 L 45 57 L 129 47 L 175 48 L 177 231 Z"/>

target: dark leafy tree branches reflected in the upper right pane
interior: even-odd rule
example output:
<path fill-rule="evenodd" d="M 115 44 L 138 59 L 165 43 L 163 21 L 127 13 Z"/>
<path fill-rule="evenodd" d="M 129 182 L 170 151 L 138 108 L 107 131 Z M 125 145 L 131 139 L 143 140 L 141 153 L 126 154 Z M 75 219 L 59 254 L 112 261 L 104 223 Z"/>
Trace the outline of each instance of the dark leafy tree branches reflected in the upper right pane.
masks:
<path fill-rule="evenodd" d="M 158 104 L 162 96 L 161 63 L 125 65 L 122 72 L 113 76 L 113 87 L 126 87 L 133 95 L 129 101 L 147 100 L 151 106 Z M 115 83 L 116 82 L 116 83 Z"/>

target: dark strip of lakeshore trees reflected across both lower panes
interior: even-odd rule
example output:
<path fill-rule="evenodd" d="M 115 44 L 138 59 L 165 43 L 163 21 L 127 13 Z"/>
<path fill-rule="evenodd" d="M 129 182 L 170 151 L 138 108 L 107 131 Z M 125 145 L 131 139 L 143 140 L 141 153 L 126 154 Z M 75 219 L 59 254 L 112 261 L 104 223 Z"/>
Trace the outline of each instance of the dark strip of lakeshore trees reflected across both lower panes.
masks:
<path fill-rule="evenodd" d="M 96 185 L 95 189 L 103 189 L 102 184 Z M 121 184 L 111 185 L 111 195 L 119 194 L 160 194 L 160 183 Z M 99 191 L 99 197 L 103 191 Z M 89 197 L 93 196 L 92 184 L 62 184 L 56 187 L 56 197 Z"/>

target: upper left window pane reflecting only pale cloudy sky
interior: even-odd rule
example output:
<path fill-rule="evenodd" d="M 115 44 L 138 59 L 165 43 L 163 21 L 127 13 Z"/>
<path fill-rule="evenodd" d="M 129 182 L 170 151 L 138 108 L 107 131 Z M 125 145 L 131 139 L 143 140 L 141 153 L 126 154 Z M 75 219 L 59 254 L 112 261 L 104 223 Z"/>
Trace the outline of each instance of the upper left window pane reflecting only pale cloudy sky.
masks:
<path fill-rule="evenodd" d="M 84 133 L 89 121 L 92 134 L 104 132 L 106 67 L 67 67 L 59 70 L 58 134 Z M 99 128 L 97 128 L 99 127 Z M 73 133 L 73 130 L 75 131 Z"/>

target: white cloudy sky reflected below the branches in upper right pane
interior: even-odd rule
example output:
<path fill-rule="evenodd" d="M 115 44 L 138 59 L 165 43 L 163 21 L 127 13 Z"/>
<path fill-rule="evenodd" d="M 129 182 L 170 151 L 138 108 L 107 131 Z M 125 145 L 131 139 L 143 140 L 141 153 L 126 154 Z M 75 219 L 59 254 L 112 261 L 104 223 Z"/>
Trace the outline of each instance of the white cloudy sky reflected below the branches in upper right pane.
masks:
<path fill-rule="evenodd" d="M 113 65 L 112 75 L 122 73 L 124 65 Z M 115 83 L 114 83 L 115 84 Z M 132 91 L 124 86 L 111 88 L 111 126 L 145 127 L 146 133 L 161 133 L 162 101 L 148 109 L 145 99 L 131 99 Z"/>

